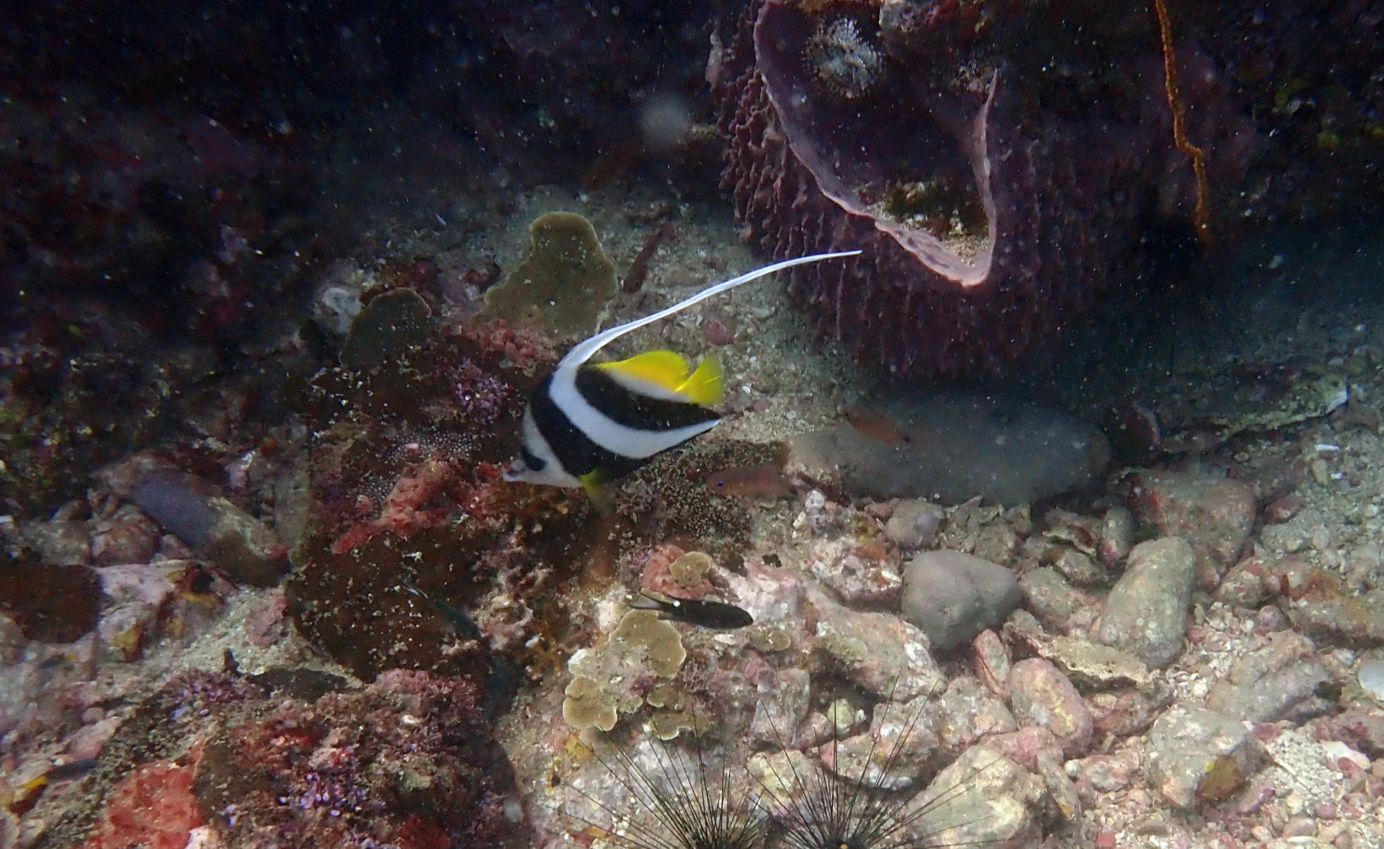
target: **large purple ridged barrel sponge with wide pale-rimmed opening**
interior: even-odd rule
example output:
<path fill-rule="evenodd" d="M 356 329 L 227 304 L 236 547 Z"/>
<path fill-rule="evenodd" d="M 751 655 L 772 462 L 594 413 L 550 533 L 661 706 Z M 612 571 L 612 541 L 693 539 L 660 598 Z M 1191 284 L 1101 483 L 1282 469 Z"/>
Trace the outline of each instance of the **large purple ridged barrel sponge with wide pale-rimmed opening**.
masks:
<path fill-rule="evenodd" d="M 1187 206 L 1143 57 L 1128 73 L 1147 90 L 1124 94 L 1120 120 L 1068 116 L 1003 58 L 956 48 L 960 24 L 938 10 L 966 6 L 882 25 L 869 3 L 760 0 L 707 71 L 746 237 L 775 259 L 862 249 L 794 269 L 789 291 L 823 335 L 900 375 L 1030 355 L 1138 270 L 1160 190 Z"/>

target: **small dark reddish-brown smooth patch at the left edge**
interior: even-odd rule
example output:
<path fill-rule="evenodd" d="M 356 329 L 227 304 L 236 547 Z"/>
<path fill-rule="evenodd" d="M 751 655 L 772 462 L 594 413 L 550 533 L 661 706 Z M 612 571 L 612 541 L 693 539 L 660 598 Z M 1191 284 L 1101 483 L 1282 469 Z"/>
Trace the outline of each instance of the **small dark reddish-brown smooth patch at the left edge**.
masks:
<path fill-rule="evenodd" d="M 44 564 L 28 548 L 0 551 L 0 611 L 29 640 L 71 643 L 95 627 L 101 580 L 82 565 Z"/>

